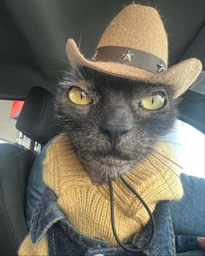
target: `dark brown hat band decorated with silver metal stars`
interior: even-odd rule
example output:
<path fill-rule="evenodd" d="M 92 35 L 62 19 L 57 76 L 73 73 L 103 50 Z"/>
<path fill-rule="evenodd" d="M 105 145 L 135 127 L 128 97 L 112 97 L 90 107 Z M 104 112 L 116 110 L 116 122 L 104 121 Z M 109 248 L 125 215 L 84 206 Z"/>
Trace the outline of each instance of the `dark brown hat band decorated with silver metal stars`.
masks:
<path fill-rule="evenodd" d="M 146 51 L 121 46 L 102 46 L 96 49 L 92 60 L 127 64 L 152 73 L 160 73 L 168 69 L 160 57 Z"/>

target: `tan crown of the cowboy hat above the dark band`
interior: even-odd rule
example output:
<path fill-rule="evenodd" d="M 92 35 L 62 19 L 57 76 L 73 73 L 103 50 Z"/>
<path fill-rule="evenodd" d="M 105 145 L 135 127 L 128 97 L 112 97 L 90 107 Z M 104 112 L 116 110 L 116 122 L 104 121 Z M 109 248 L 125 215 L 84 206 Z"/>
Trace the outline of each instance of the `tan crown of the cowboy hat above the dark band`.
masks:
<path fill-rule="evenodd" d="M 168 38 L 162 19 L 152 7 L 130 4 L 106 28 L 97 48 L 120 46 L 146 51 L 168 64 Z"/>

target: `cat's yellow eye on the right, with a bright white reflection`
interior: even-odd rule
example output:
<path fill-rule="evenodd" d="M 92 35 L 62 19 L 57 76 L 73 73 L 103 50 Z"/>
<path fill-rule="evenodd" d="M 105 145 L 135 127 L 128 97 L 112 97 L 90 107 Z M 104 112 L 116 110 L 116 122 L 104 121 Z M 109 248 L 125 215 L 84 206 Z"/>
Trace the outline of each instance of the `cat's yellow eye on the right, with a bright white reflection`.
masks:
<path fill-rule="evenodd" d="M 166 103 L 166 98 L 161 94 L 153 94 L 151 96 L 142 98 L 141 105 L 144 109 L 149 111 L 156 111 L 162 109 Z"/>

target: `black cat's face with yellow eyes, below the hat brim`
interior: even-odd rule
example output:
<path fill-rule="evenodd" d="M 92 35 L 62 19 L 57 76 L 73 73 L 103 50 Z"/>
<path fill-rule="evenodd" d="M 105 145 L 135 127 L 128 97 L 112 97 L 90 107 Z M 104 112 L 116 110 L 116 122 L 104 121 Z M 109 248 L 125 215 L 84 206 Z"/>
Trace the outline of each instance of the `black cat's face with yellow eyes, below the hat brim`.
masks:
<path fill-rule="evenodd" d="M 58 86 L 56 124 L 101 184 L 128 172 L 172 129 L 173 95 L 169 85 L 71 69 Z"/>

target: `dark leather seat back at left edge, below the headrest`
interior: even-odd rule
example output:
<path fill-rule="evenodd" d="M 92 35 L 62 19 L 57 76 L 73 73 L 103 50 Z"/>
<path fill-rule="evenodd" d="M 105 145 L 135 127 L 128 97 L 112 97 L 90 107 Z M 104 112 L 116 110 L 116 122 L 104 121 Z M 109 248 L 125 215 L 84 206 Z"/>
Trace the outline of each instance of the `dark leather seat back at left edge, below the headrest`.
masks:
<path fill-rule="evenodd" d="M 28 230 L 25 191 L 35 152 L 19 145 L 0 145 L 0 255 L 16 255 Z"/>

